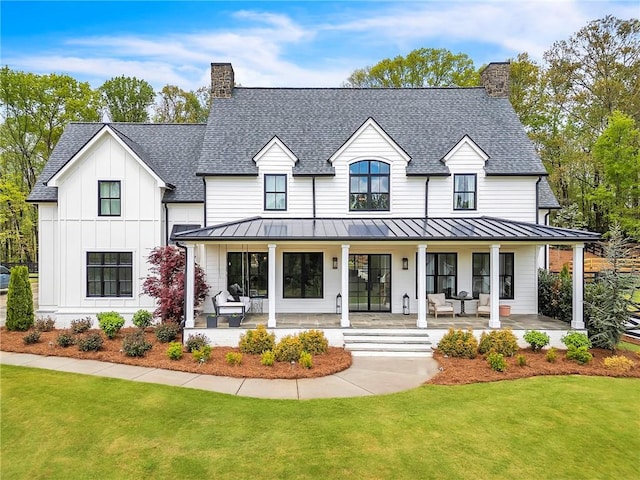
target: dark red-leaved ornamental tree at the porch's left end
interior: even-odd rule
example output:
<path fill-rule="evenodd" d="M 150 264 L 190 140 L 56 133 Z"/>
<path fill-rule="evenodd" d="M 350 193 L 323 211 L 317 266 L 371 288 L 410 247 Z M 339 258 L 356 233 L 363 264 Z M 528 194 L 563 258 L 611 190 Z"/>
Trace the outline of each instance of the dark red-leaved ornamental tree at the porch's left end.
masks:
<path fill-rule="evenodd" d="M 142 284 L 142 291 L 156 299 L 158 308 L 154 314 L 163 322 L 179 323 L 184 318 L 185 252 L 173 245 L 156 247 L 147 262 L 151 265 L 150 273 Z M 204 270 L 196 264 L 194 308 L 204 301 L 209 291 L 204 278 Z"/>

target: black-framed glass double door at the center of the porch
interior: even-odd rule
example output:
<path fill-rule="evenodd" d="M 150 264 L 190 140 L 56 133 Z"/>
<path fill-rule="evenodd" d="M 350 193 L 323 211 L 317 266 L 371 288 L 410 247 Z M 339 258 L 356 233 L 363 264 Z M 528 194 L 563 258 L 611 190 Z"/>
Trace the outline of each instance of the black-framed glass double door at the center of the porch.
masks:
<path fill-rule="evenodd" d="M 349 255 L 349 311 L 391 311 L 391 255 Z"/>

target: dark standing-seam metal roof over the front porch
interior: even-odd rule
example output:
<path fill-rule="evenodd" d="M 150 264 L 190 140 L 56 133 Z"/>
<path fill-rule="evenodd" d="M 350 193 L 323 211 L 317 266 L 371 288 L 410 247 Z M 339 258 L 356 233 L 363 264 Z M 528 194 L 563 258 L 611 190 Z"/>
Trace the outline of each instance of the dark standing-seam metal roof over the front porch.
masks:
<path fill-rule="evenodd" d="M 174 241 L 528 241 L 596 242 L 600 234 L 494 217 L 262 218 L 173 233 Z"/>

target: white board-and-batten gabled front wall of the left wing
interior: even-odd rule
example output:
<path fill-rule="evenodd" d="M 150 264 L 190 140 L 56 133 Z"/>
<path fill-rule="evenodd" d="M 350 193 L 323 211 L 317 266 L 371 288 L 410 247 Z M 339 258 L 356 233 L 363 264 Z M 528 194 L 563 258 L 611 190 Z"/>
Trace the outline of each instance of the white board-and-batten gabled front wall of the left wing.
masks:
<path fill-rule="evenodd" d="M 121 216 L 98 215 L 98 181 L 121 182 Z M 110 135 L 99 139 L 58 180 L 57 231 L 52 251 L 58 257 L 59 292 L 54 293 L 60 315 L 87 314 L 109 308 L 152 308 L 153 299 L 141 296 L 139 280 L 148 274 L 147 256 L 161 245 L 162 189 L 140 162 Z M 51 229 L 49 229 L 51 230 Z M 47 241 L 45 238 L 42 241 Z M 132 252 L 133 296 L 89 298 L 86 296 L 87 252 Z M 43 260 L 43 267 L 53 262 Z M 64 272 L 62 271 L 64 270 Z M 49 276 L 49 272 L 43 272 Z M 62 280 L 62 279 L 61 279 Z M 46 292 L 45 296 L 50 295 Z M 41 288 L 42 288 L 41 287 Z"/>

